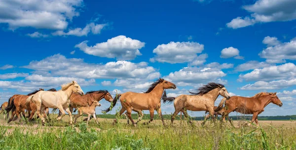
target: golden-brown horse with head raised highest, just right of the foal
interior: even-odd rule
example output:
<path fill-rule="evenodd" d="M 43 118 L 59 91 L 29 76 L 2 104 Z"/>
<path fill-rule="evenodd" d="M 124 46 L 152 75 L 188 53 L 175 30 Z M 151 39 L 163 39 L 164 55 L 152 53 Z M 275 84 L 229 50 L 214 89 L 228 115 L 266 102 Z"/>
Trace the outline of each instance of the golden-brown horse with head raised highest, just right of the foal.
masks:
<path fill-rule="evenodd" d="M 145 124 L 148 124 L 153 120 L 155 110 L 157 111 L 159 117 L 162 120 L 162 123 L 164 124 L 164 119 L 162 117 L 160 108 L 160 100 L 163 90 L 170 88 L 176 89 L 176 85 L 162 78 L 159 78 L 149 86 L 148 90 L 145 93 L 126 92 L 123 94 L 117 94 L 114 99 L 115 102 L 113 104 L 115 105 L 117 99 L 119 98 L 122 105 L 119 116 L 126 110 L 127 116 L 132 121 L 134 126 L 136 126 L 136 123 L 132 119 L 131 115 L 134 108 L 139 110 L 149 110 L 150 120 Z M 115 119 L 114 123 L 116 122 L 117 120 Z"/>

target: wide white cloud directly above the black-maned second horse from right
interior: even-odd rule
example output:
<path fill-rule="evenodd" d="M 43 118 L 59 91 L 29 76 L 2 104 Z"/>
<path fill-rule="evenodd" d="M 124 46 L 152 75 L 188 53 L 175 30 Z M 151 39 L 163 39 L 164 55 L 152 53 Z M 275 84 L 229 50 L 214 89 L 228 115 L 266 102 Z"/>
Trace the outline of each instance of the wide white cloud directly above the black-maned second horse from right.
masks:
<path fill-rule="evenodd" d="M 164 78 L 174 81 L 177 86 L 198 86 L 209 81 L 218 81 L 225 83 L 225 80 L 220 79 L 226 74 L 222 69 L 232 68 L 233 64 L 211 63 L 204 67 L 185 67 L 180 71 L 170 73 Z"/>

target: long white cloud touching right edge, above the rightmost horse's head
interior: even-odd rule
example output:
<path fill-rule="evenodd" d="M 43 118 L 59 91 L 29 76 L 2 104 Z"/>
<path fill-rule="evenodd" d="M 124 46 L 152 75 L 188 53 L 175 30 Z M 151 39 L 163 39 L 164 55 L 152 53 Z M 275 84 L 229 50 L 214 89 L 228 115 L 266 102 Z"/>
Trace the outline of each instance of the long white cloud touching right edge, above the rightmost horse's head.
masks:
<path fill-rule="evenodd" d="M 251 73 L 239 75 L 239 79 L 246 81 L 270 81 L 275 79 L 292 79 L 296 76 L 296 65 L 287 63 L 279 66 L 255 69 Z"/>

